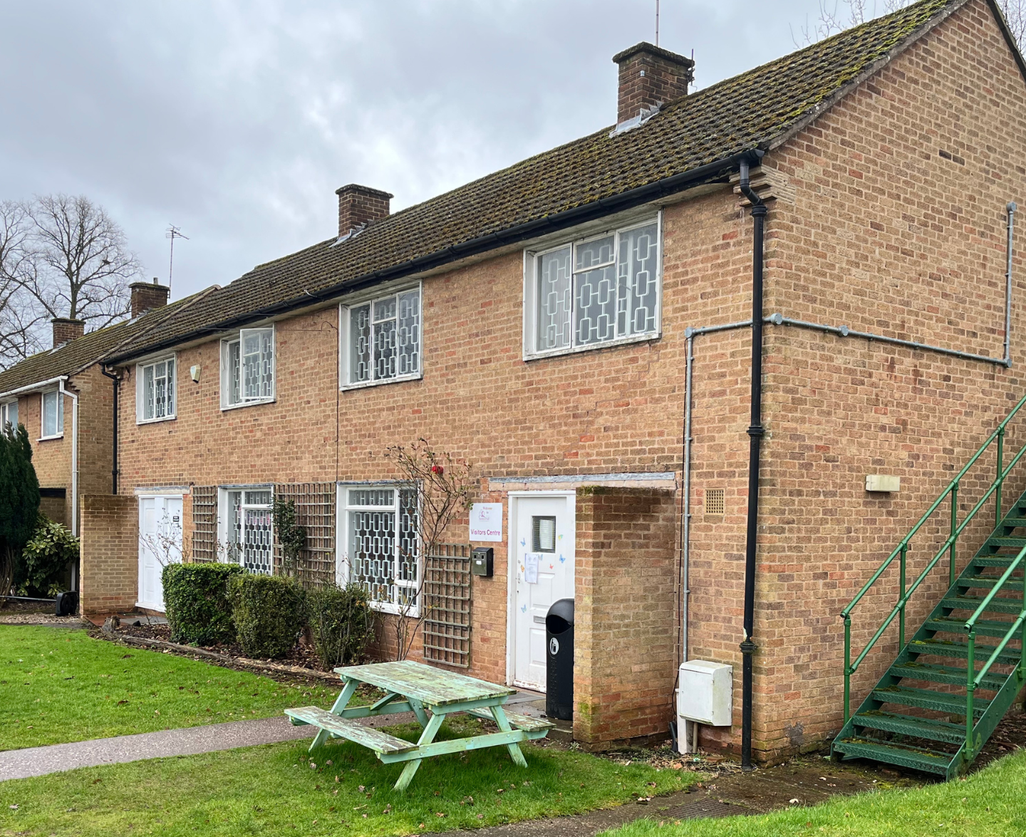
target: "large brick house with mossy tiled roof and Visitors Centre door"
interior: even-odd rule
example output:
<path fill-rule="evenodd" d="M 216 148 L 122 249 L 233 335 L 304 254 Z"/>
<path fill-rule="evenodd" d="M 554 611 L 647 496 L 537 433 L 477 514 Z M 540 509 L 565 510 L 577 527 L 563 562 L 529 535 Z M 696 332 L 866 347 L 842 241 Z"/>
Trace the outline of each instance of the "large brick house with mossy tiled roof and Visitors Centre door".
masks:
<path fill-rule="evenodd" d="M 922 0 L 693 92 L 690 58 L 615 61 L 614 125 L 394 214 L 343 187 L 337 235 L 111 354 L 119 495 L 83 500 L 84 607 L 162 607 L 166 556 L 123 533 L 180 510 L 190 560 L 274 571 L 291 497 L 310 583 L 388 613 L 451 573 L 417 659 L 544 689 L 545 613 L 573 598 L 588 747 L 664 739 L 685 660 L 734 667 L 703 747 L 750 732 L 773 760 L 837 732 L 840 609 L 1023 392 L 1026 68 L 990 0 Z M 473 464 L 492 540 L 465 517 L 448 556 L 401 559 L 383 454 L 420 437 Z"/>

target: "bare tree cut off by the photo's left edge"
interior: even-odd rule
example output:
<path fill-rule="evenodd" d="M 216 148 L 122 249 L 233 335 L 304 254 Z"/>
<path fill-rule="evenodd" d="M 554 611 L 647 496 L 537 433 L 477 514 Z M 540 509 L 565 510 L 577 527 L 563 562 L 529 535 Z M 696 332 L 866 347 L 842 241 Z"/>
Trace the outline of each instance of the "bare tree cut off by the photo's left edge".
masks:
<path fill-rule="evenodd" d="M 22 284 L 32 273 L 26 236 L 24 207 L 0 201 L 0 369 L 43 348 L 38 326 L 45 312 Z"/>

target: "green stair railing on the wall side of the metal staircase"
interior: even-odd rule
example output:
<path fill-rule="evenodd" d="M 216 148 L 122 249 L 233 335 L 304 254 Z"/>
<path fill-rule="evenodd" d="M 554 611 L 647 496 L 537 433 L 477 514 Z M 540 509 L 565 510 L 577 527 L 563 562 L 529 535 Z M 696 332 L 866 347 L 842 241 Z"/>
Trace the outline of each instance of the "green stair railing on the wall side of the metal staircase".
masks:
<path fill-rule="evenodd" d="M 841 619 L 844 621 L 844 722 L 847 723 L 849 718 L 852 716 L 851 713 L 851 694 L 852 694 L 852 675 L 858 671 L 859 666 L 862 661 L 866 659 L 866 654 L 876 645 L 883 633 L 891 627 L 894 621 L 898 620 L 898 647 L 905 647 L 905 608 L 912 597 L 912 594 L 918 589 L 919 585 L 926 579 L 926 576 L 933 571 L 934 567 L 937 566 L 938 562 L 944 556 L 945 553 L 949 557 L 949 582 L 948 587 L 954 586 L 955 583 L 955 552 L 958 543 L 958 535 L 962 533 L 965 527 L 976 518 L 980 510 L 983 508 L 984 504 L 994 495 L 994 525 L 997 526 L 1001 522 L 1001 488 L 1004 484 L 1004 480 L 1008 478 L 1012 469 L 1016 467 L 1019 461 L 1026 454 L 1026 445 L 1024 445 L 1018 453 L 1012 459 L 1007 467 L 1002 467 L 1003 456 L 1004 456 L 1004 431 L 1008 427 L 1009 422 L 1011 422 L 1016 414 L 1022 409 L 1023 405 L 1026 404 L 1026 396 L 1023 396 L 1019 403 L 1012 408 L 1012 411 L 1004 416 L 1001 423 L 997 426 L 993 433 L 987 438 L 987 441 L 983 443 L 979 450 L 973 454 L 968 463 L 962 467 L 954 479 L 948 483 L 947 488 L 945 488 L 940 496 L 934 501 L 931 507 L 926 510 L 926 513 L 919 518 L 918 522 L 912 526 L 908 534 L 906 534 L 898 546 L 895 548 L 884 560 L 883 563 L 876 569 L 876 571 L 870 576 L 869 581 L 863 586 L 855 598 L 847 603 L 847 606 L 840 611 Z M 958 485 L 962 478 L 969 472 L 969 470 L 976 465 L 977 461 L 988 450 L 990 446 L 995 444 L 997 446 L 997 474 L 994 477 L 993 482 L 987 488 L 986 492 L 980 499 L 979 503 L 973 507 L 972 511 L 965 516 L 965 519 L 961 523 L 958 522 Z M 922 525 L 933 516 L 941 504 L 947 499 L 951 497 L 951 518 L 950 518 L 950 534 L 947 540 L 943 543 L 941 548 L 937 551 L 934 557 L 926 564 L 925 568 L 919 575 L 915 579 L 910 587 L 906 589 L 906 561 L 908 558 L 908 550 L 912 542 L 912 537 L 915 536 L 916 532 L 922 527 Z M 1021 554 L 1020 554 L 1021 555 Z M 892 608 L 891 612 L 883 620 L 883 623 L 879 628 L 876 629 L 876 633 L 873 634 L 872 639 L 866 643 L 866 646 L 862 649 L 861 653 L 852 662 L 852 611 L 855 606 L 862 600 L 862 597 L 866 595 L 869 590 L 880 580 L 880 576 L 886 571 L 895 558 L 899 559 L 899 573 L 900 573 L 900 586 L 898 602 Z M 974 620 L 976 616 L 974 615 Z M 974 622 L 975 624 L 975 622 Z M 1005 640 L 1005 643 L 1008 641 Z M 972 646 L 971 646 L 972 647 Z M 1003 647 L 1003 645 L 1002 645 Z M 972 661 L 970 663 L 970 678 L 972 678 Z M 972 717 L 972 716 L 970 716 Z M 970 722 L 971 723 L 971 722 Z"/>

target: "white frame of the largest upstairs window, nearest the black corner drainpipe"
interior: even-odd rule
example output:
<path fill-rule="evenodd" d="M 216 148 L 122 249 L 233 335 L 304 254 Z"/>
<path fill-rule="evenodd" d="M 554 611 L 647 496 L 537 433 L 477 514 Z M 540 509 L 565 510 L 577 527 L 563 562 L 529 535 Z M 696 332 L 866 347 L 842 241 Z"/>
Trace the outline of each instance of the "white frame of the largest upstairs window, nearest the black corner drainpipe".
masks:
<path fill-rule="evenodd" d="M 622 337 L 603 341 L 601 343 L 576 344 L 577 328 L 575 327 L 575 309 L 577 303 L 577 287 L 573 279 L 573 266 L 577 247 L 596 239 L 614 236 L 614 258 L 613 264 L 619 264 L 620 257 L 620 235 L 639 227 L 646 227 L 653 222 L 656 223 L 657 247 L 659 252 L 656 256 L 656 328 L 653 331 L 644 331 L 637 334 L 628 334 Z M 571 308 L 569 314 L 570 345 L 556 349 L 538 349 L 538 262 L 546 253 L 561 250 L 570 246 L 570 301 Z M 608 349 L 614 346 L 625 346 L 632 343 L 646 343 L 659 340 L 663 335 L 663 212 L 659 211 L 655 215 L 647 215 L 641 220 L 623 223 L 616 227 L 609 227 L 599 233 L 589 234 L 580 238 L 570 238 L 559 241 L 553 246 L 545 246 L 542 249 L 525 249 L 523 251 L 523 359 L 535 360 L 537 358 L 554 357 L 558 355 L 573 355 L 578 352 L 591 352 L 597 349 Z"/>

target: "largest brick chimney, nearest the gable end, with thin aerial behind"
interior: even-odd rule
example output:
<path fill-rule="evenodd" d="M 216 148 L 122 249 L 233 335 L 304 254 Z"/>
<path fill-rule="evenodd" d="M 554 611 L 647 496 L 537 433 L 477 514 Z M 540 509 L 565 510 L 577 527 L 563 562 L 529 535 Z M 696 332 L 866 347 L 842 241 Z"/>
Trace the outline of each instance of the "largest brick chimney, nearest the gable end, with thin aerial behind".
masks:
<path fill-rule="evenodd" d="M 637 118 L 659 103 L 687 95 L 695 62 L 642 41 L 613 56 L 620 67 L 617 125 Z"/>

